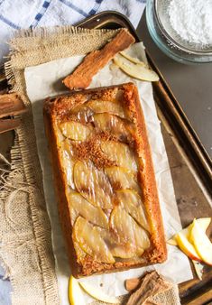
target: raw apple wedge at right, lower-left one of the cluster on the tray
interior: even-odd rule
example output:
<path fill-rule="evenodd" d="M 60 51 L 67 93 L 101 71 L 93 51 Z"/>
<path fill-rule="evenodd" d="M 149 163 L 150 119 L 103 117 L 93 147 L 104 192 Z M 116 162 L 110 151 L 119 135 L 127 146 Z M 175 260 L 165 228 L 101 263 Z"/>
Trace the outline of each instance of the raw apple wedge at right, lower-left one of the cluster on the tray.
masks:
<path fill-rule="evenodd" d="M 189 240 L 186 236 L 184 236 L 181 232 L 179 232 L 175 239 L 177 240 L 178 245 L 180 246 L 180 249 L 184 254 L 189 256 L 192 260 L 201 262 L 201 258 L 199 257 L 196 249 L 192 244 L 189 243 Z"/>

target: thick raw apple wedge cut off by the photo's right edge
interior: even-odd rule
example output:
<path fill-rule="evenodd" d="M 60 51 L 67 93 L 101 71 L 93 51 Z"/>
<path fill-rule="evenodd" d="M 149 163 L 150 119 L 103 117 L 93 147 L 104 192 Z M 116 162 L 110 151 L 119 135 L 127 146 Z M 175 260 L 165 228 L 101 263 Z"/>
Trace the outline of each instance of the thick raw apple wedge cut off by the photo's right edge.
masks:
<path fill-rule="evenodd" d="M 198 225 L 196 219 L 193 221 L 189 240 L 195 246 L 195 249 L 203 262 L 212 266 L 212 243 L 201 226 Z"/>

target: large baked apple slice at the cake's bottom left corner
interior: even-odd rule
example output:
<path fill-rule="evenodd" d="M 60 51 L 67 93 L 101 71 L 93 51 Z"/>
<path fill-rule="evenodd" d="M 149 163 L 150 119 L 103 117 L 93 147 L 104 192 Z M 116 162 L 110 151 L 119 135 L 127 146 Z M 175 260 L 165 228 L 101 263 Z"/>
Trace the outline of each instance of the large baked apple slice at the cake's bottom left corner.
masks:
<path fill-rule="evenodd" d="M 97 262 L 115 263 L 115 259 L 109 251 L 105 241 L 97 230 L 83 217 L 78 217 L 73 229 L 73 239 L 84 252 L 92 256 Z"/>

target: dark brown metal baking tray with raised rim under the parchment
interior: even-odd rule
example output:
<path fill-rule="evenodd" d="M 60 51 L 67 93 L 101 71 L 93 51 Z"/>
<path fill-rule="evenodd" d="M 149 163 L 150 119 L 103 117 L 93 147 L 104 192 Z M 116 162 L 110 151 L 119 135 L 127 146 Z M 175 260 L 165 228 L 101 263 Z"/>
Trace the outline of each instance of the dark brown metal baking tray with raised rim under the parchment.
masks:
<path fill-rule="evenodd" d="M 133 25 L 124 17 L 113 11 L 107 11 L 88 17 L 75 24 L 88 29 L 127 28 L 140 39 Z M 194 217 L 212 217 L 212 161 L 189 124 L 180 104 L 163 79 L 161 72 L 151 59 L 151 50 L 147 51 L 149 63 L 159 75 L 160 81 L 153 83 L 153 94 L 161 120 L 161 131 L 171 166 L 171 176 L 180 212 L 182 226 L 187 226 Z M 0 71 L 0 90 L 7 87 L 4 72 Z M 4 137 L 4 142 L 1 141 Z M 0 150 L 7 152 L 13 143 L 13 132 L 0 135 Z M 2 143 L 5 143 L 3 146 Z M 212 226 L 208 229 L 212 235 Z M 194 279 L 180 284 L 182 304 L 200 305 L 212 301 L 212 268 L 205 266 L 203 280 Z"/>

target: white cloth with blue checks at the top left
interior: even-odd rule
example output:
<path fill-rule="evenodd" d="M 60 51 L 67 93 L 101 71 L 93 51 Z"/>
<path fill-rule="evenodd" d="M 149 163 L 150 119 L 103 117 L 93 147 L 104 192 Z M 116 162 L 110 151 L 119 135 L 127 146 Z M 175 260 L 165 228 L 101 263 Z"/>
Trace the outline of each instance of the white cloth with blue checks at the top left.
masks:
<path fill-rule="evenodd" d="M 14 30 L 74 24 L 106 10 L 126 15 L 137 26 L 145 0 L 0 0 L 0 64 Z"/>

